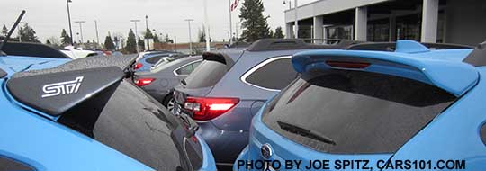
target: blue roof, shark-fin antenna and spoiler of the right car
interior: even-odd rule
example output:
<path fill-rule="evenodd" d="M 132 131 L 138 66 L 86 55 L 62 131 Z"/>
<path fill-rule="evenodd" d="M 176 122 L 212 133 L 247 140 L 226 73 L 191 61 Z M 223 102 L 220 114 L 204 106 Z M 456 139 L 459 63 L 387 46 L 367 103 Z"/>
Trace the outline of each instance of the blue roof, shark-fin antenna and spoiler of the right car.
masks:
<path fill-rule="evenodd" d="M 338 49 L 309 50 L 293 56 L 293 67 L 296 71 L 305 73 L 311 69 L 308 66 L 317 62 L 322 63 L 321 67 L 330 68 L 328 65 L 324 65 L 325 62 L 322 61 L 357 60 L 372 64 L 389 62 L 391 64 L 413 67 L 414 69 L 410 69 L 408 72 L 421 73 L 420 75 L 425 76 L 421 81 L 428 82 L 431 85 L 437 85 L 447 92 L 458 96 L 464 94 L 477 83 L 479 79 L 477 69 L 463 62 L 464 58 L 473 49 L 430 50 L 420 46 L 422 45 L 414 41 L 399 41 L 397 42 L 396 52 Z M 402 47 L 402 49 L 399 49 L 399 47 Z M 385 67 L 387 65 L 383 64 Z M 382 72 L 379 69 L 383 70 L 383 66 L 381 68 L 367 68 L 366 70 L 370 72 Z"/>

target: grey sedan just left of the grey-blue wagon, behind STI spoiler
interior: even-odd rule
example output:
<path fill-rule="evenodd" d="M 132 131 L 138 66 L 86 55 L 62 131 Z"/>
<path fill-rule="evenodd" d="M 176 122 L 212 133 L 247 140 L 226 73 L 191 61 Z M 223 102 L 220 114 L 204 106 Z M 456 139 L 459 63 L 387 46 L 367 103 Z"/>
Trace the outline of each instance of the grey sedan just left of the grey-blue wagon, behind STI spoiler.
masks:
<path fill-rule="evenodd" d="M 136 72 L 134 82 L 172 112 L 174 86 L 202 62 L 201 56 L 160 60 L 150 71 Z"/>

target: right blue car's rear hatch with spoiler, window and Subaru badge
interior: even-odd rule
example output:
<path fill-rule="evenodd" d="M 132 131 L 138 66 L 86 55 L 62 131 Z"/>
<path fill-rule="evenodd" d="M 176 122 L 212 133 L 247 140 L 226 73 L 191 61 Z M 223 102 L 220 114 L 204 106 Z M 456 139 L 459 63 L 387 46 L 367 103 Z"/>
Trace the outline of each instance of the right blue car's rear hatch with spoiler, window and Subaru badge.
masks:
<path fill-rule="evenodd" d="M 251 159 L 386 161 L 479 79 L 462 62 L 397 53 L 311 51 L 293 66 L 302 77 L 254 118 Z"/>

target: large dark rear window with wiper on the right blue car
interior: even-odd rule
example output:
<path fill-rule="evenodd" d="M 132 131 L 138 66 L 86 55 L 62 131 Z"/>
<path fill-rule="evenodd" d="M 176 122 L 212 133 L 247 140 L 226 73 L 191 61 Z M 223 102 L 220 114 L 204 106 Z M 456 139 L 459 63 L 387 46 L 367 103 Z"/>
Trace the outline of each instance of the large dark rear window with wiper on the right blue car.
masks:
<path fill-rule="evenodd" d="M 394 153 L 455 99 L 436 86 L 399 76 L 316 71 L 275 97 L 263 121 L 321 152 Z"/>

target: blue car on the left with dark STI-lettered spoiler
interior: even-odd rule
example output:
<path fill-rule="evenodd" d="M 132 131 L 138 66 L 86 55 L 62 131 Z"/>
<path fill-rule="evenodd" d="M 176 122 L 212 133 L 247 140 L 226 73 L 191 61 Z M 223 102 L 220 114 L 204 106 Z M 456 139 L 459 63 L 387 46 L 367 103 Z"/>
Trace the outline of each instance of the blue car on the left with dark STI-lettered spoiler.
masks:
<path fill-rule="evenodd" d="M 216 169 L 197 124 L 127 81 L 135 57 L 50 60 L 0 57 L 0 170 Z"/>

